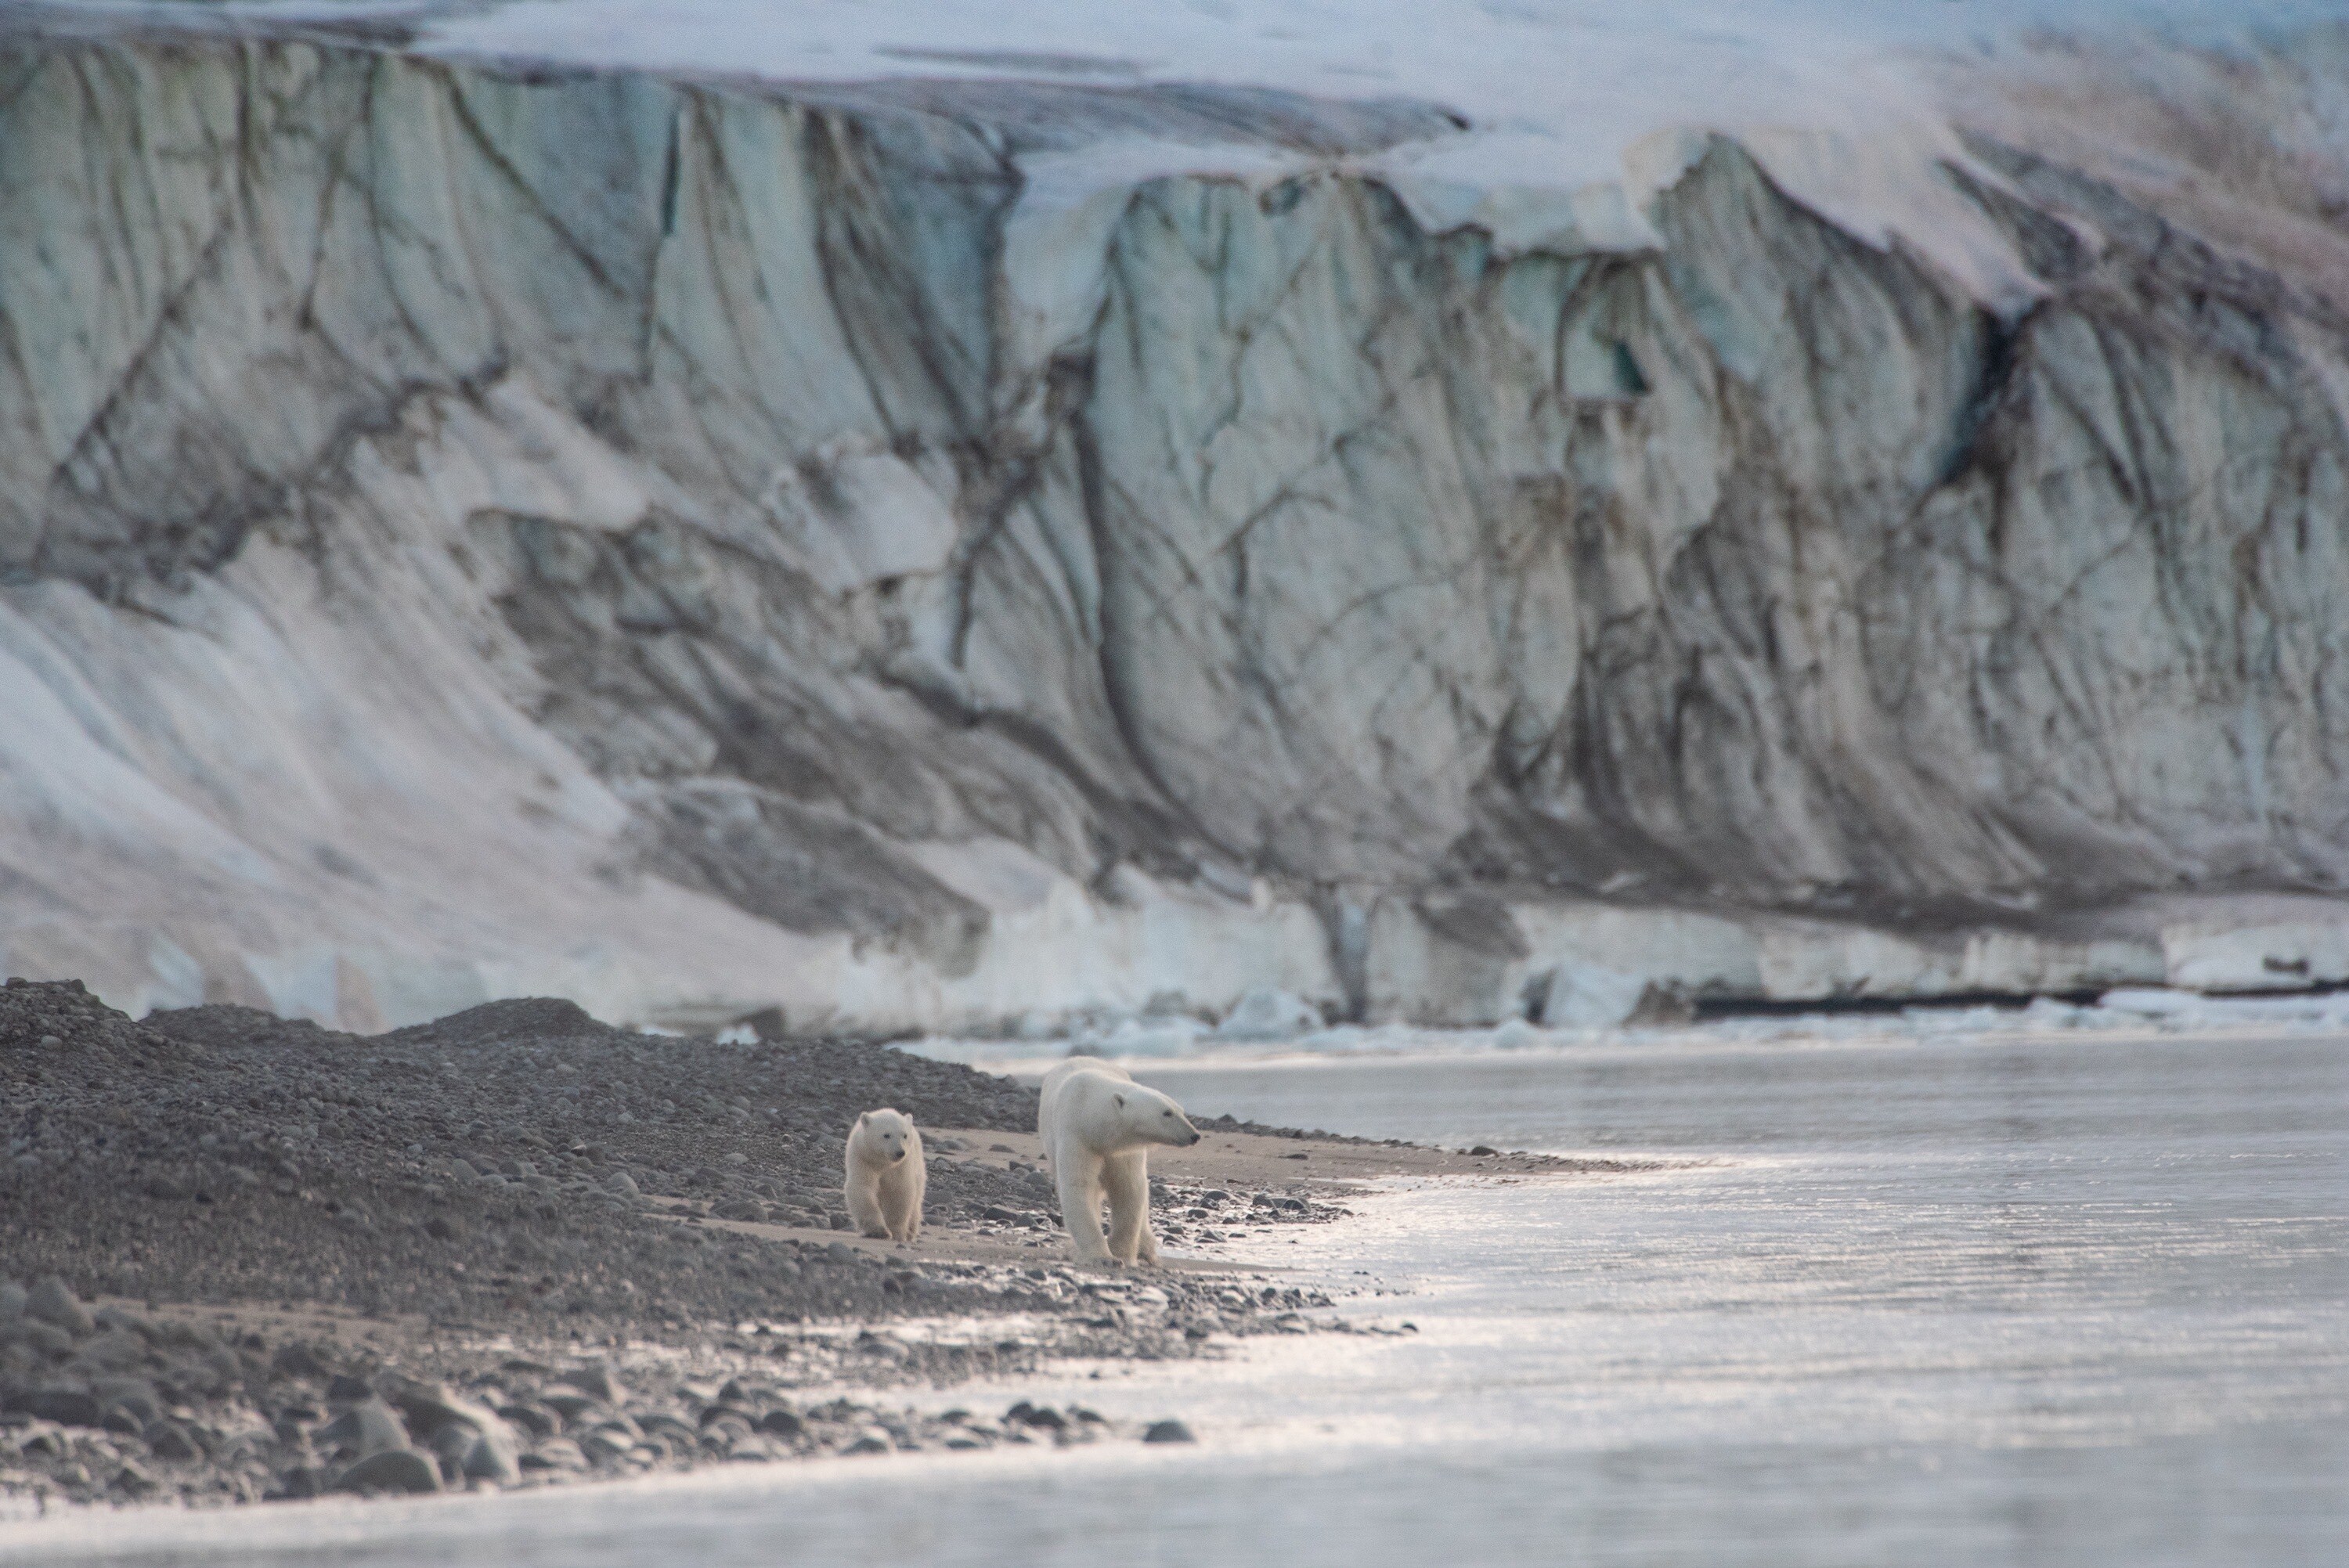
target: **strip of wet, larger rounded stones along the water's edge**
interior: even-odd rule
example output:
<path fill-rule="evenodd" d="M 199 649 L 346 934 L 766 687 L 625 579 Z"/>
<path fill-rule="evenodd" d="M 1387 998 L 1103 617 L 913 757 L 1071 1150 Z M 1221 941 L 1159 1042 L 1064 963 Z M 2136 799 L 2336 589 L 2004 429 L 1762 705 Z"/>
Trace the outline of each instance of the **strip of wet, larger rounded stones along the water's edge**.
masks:
<path fill-rule="evenodd" d="M 1041 1270 L 1043 1272 L 1043 1270 Z M 1083 1406 L 923 1413 L 888 1387 L 951 1385 L 1052 1357 L 1207 1350 L 1165 1322 L 1207 1293 L 1050 1270 L 1092 1317 L 958 1319 L 902 1333 L 700 1324 L 660 1340 L 446 1336 L 359 1314 L 92 1310 L 47 1277 L 0 1286 L 0 1516 L 56 1505 L 280 1502 L 627 1479 L 714 1462 L 1189 1441 L 1179 1420 L 1128 1427 Z M 1294 1296 L 1294 1293 L 1292 1293 Z M 1231 1303 L 1217 1303 L 1229 1314 Z M 1156 1307 L 1156 1310 L 1153 1310 Z M 1276 1322 L 1247 1303 L 1240 1333 Z M 31 1354 L 21 1354 L 31 1352 Z M 850 1392 L 843 1392 L 850 1390 Z"/>

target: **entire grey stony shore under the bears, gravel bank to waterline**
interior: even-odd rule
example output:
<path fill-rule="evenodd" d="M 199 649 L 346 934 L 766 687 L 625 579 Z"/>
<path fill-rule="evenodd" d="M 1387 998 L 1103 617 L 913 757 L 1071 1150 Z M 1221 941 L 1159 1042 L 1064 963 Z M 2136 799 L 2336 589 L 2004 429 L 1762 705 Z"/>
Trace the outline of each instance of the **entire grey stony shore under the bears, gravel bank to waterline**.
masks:
<path fill-rule="evenodd" d="M 921 1415 L 1062 1357 L 1217 1354 L 1327 1298 L 1064 1261 L 1034 1094 L 860 1042 L 639 1035 L 493 1002 L 341 1035 L 0 991 L 0 1509 L 545 1486 L 707 1462 L 1182 1437 Z M 841 1129 L 930 1131 L 918 1246 L 846 1230 Z M 1332 1181 L 1555 1167 L 1203 1120 L 1170 1242 L 1344 1214 Z M 1318 1162 L 1318 1164 L 1315 1164 Z"/>

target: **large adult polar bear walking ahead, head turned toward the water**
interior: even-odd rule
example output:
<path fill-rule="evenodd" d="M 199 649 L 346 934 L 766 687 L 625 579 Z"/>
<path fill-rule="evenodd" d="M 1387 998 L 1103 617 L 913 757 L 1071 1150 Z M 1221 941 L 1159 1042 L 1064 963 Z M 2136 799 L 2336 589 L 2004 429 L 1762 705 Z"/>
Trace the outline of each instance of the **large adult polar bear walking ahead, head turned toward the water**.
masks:
<path fill-rule="evenodd" d="M 1198 1129 L 1158 1089 L 1113 1061 L 1071 1056 L 1043 1075 L 1036 1136 L 1059 1188 L 1059 1223 L 1078 1263 L 1158 1263 L 1151 1235 L 1151 1143 L 1191 1148 Z M 1109 1237 L 1102 1237 L 1102 1197 Z"/>

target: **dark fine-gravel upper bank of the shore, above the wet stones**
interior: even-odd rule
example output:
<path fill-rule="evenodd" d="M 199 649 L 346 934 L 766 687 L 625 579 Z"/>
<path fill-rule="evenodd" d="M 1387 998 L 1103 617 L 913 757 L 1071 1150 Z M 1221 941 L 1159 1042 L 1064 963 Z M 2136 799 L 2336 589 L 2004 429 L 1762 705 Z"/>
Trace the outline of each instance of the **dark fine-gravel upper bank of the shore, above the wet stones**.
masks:
<path fill-rule="evenodd" d="M 787 1246 L 681 1251 L 653 1199 L 846 1228 L 860 1110 L 1036 1115 L 1019 1084 L 886 1047 L 637 1035 L 559 1000 L 364 1038 L 247 1007 L 134 1023 L 75 981 L 0 988 L 0 1277 L 620 1331 L 902 1312 L 876 1272 Z M 933 1223 L 1048 1197 L 1027 1171 L 930 1178 Z"/>

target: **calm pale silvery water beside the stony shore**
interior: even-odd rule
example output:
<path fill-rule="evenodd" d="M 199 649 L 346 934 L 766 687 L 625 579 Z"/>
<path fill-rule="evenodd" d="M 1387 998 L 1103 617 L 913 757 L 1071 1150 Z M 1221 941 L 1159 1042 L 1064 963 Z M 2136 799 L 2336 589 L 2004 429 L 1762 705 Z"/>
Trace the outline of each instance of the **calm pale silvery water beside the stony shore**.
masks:
<path fill-rule="evenodd" d="M 1665 1169 L 1395 1188 L 1247 1253 L 1393 1333 L 1017 1385 L 1179 1413 L 1198 1448 L 38 1523 L 0 1563 L 2330 1563 L 2344 1047 L 1696 1030 L 1153 1063 L 1196 1108 Z"/>

